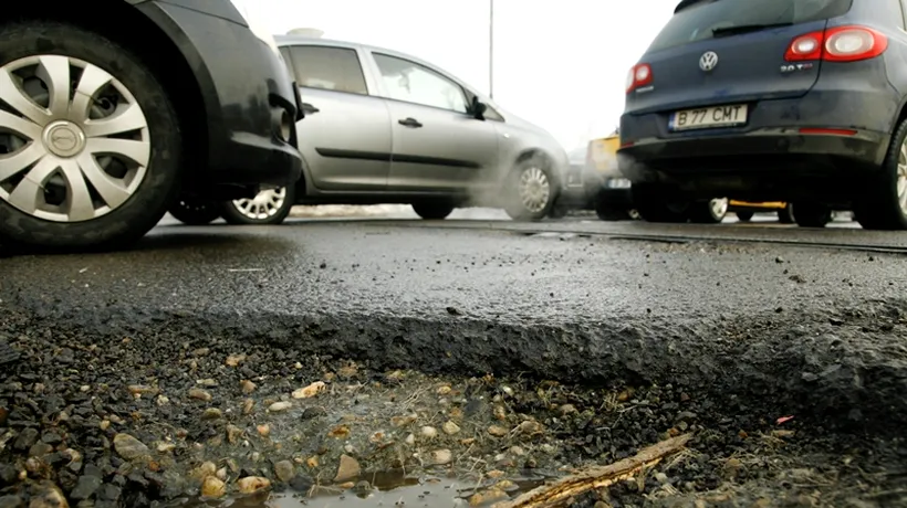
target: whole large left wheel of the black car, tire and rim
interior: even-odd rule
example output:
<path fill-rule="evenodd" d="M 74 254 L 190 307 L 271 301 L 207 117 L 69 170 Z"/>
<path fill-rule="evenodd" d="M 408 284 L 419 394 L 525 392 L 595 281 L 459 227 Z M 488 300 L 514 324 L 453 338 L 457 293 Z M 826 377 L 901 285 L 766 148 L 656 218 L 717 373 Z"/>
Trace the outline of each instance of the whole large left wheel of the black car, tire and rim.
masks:
<path fill-rule="evenodd" d="M 70 23 L 17 21 L 0 27 L 0 99 L 18 112 L 0 119 L 17 133 L 3 140 L 0 243 L 106 250 L 154 227 L 176 199 L 183 146 L 173 103 L 142 60 Z M 28 76 L 22 86 L 13 72 Z"/>

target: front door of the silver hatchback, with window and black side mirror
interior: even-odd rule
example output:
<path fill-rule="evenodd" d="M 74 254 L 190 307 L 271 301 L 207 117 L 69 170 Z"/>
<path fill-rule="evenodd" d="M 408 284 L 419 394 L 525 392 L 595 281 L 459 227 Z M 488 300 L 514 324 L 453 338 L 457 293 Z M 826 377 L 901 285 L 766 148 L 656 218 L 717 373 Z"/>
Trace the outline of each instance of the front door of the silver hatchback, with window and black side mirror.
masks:
<path fill-rule="evenodd" d="M 372 51 L 393 131 L 392 191 L 463 191 L 498 165 L 498 134 L 467 113 L 462 86 L 427 65 Z"/>

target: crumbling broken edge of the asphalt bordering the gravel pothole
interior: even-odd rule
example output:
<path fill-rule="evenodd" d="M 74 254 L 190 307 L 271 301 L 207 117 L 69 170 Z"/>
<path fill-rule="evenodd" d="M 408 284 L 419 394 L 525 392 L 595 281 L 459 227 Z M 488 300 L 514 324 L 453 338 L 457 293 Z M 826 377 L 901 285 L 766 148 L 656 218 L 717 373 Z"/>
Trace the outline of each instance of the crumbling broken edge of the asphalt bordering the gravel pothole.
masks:
<path fill-rule="evenodd" d="M 438 314 L 222 313 L 76 308 L 7 301 L 6 318 L 34 332 L 91 340 L 161 334 L 264 343 L 373 369 L 522 375 L 565 383 L 684 387 L 728 404 L 770 402 L 828 427 L 880 435 L 907 421 L 907 300 L 749 316 L 609 317 L 565 324 Z M 2 331 L 2 328 L 0 328 Z M 10 338 L 14 339 L 14 338 Z M 240 346 L 238 346 L 240 347 Z"/>

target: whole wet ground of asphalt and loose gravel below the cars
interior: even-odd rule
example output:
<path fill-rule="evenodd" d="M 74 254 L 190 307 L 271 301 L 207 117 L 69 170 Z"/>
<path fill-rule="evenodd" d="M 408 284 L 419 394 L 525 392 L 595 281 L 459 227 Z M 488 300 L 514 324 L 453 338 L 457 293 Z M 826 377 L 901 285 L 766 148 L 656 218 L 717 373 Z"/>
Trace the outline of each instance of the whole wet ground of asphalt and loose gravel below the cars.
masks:
<path fill-rule="evenodd" d="M 663 479 L 649 478 L 648 489 L 681 496 L 664 506 L 700 506 L 712 495 L 737 502 L 727 506 L 781 496 L 799 502 L 791 506 L 895 506 L 905 501 L 907 457 L 898 437 L 907 421 L 905 254 L 907 234 L 846 220 L 824 230 L 765 218 L 530 224 L 463 210 L 428 222 L 392 208 L 269 227 L 167 219 L 129 251 L 7 256 L 0 506 L 55 495 L 51 484 L 19 484 L 23 477 L 52 479 L 73 502 L 150 506 L 198 493 L 221 464 L 236 466 L 217 469 L 231 485 L 257 476 L 311 493 L 341 477 L 343 454 L 365 458 L 371 470 L 398 468 L 398 454 L 413 455 L 408 443 L 423 446 L 402 442 L 405 425 L 421 426 L 425 443 L 435 442 L 424 425 L 460 432 L 439 415 L 459 417 L 475 437 L 451 434 L 447 449 L 423 452 L 459 457 L 451 467 L 461 479 L 479 463 L 525 479 L 508 456 L 552 467 L 606 463 L 690 431 L 697 437 L 684 465 L 670 462 Z M 296 401 L 295 390 L 314 380 L 333 388 Z M 439 385 L 466 394 L 459 416 L 436 395 Z M 510 411 L 496 406 L 492 415 L 488 400 Z M 281 413 L 280 404 L 293 409 Z M 388 421 L 397 427 L 411 404 L 423 409 L 385 448 Z M 353 434 L 343 424 L 351 412 Z M 784 415 L 795 416 L 795 433 L 775 423 Z M 488 425 L 519 430 L 527 419 L 549 428 L 543 445 L 489 440 Z M 347 438 L 331 437 L 338 432 Z M 163 474 L 156 462 L 132 470 L 122 461 L 136 463 L 146 444 L 167 461 Z M 76 452 L 53 453 L 64 446 Z M 373 448 L 387 456 L 365 454 Z M 853 463 L 843 458 L 851 449 Z M 84 468 L 66 462 L 75 453 L 84 453 Z M 424 465 L 410 457 L 407 467 L 414 461 Z M 743 474 L 728 484 L 729 467 L 750 468 L 753 480 Z M 305 474 L 292 477 L 296 470 Z M 801 477 L 810 470 L 827 474 Z M 482 478 L 468 481 L 476 488 Z M 377 485 L 365 479 L 353 490 Z M 409 496 L 413 506 L 463 506 L 448 487 L 395 490 L 385 504 Z M 206 479 L 204 488 L 218 497 L 226 487 Z M 350 488 L 312 506 L 383 499 L 336 497 Z M 642 502 L 642 491 L 611 493 Z M 844 504 L 854 496 L 877 505 Z"/>

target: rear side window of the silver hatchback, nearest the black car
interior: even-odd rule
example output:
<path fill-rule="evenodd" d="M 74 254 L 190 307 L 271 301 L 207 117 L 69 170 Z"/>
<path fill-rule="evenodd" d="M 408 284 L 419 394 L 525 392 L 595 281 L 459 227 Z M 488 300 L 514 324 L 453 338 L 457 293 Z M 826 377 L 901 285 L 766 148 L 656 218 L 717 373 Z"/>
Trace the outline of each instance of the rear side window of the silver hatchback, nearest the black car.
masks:
<path fill-rule="evenodd" d="M 290 54 L 299 86 L 368 95 L 355 50 L 298 45 L 290 50 Z"/>

